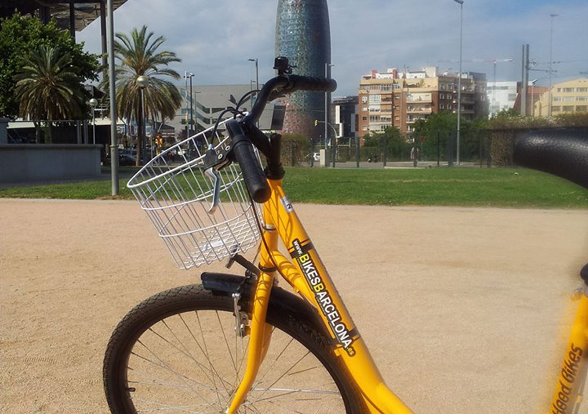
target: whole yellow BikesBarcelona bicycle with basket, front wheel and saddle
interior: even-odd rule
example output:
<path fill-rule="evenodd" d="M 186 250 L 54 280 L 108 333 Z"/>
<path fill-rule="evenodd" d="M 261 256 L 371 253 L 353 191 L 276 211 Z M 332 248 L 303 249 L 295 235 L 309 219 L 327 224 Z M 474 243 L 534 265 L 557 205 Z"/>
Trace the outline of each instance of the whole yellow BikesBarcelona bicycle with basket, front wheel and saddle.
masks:
<path fill-rule="evenodd" d="M 128 183 L 179 266 L 227 260 L 245 276 L 202 273 L 201 284 L 158 293 L 122 319 L 103 368 L 112 413 L 412 412 L 387 388 L 282 188 L 280 135 L 255 126 L 272 99 L 336 83 L 292 75 L 285 58 L 275 69 L 249 113 L 239 108 L 250 94 L 227 109 L 231 119 L 163 151 Z M 586 138 L 535 135 L 515 150 L 519 165 L 588 187 Z M 169 163 L 170 152 L 183 162 Z M 255 246 L 259 261 L 248 261 L 242 253 Z M 276 286 L 278 276 L 298 295 Z M 546 408 L 554 414 L 577 412 L 586 381 L 586 285 L 577 299 Z"/>

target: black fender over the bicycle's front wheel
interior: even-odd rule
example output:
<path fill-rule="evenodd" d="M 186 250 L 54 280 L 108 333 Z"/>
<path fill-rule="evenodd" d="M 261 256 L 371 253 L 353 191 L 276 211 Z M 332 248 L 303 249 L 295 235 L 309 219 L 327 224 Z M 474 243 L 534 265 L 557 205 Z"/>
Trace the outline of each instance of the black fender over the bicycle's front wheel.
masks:
<path fill-rule="evenodd" d="M 228 273 L 212 272 L 204 272 L 200 278 L 202 280 L 202 286 L 207 291 L 211 291 L 217 295 L 232 295 L 232 293 L 240 292 L 241 299 L 239 305 L 246 312 L 250 312 L 252 298 L 255 293 L 255 279 L 245 278 L 239 275 L 229 275 Z M 278 286 L 273 286 L 272 293 L 269 297 L 269 309 L 295 316 L 297 319 L 301 319 L 308 323 L 308 325 L 313 326 L 317 332 L 331 340 L 331 336 L 325 328 L 325 325 L 323 325 L 322 320 L 320 320 L 316 309 L 299 296 L 285 291 Z"/>

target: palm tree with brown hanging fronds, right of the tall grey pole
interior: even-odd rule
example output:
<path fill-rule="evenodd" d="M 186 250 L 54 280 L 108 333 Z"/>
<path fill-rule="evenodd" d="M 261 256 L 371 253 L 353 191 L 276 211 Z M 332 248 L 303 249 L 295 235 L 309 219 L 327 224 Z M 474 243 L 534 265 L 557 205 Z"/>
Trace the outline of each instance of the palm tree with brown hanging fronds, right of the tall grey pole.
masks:
<path fill-rule="evenodd" d="M 123 33 L 116 34 L 114 45 L 115 55 L 119 63 L 116 65 L 116 103 L 121 117 L 138 121 L 137 161 L 141 165 L 141 148 L 143 141 L 143 105 L 141 88 L 137 78 L 147 76 L 148 82 L 143 88 L 145 94 L 145 116 L 161 119 L 175 116 L 176 110 L 182 104 L 178 88 L 172 82 L 161 79 L 165 76 L 179 79 L 178 72 L 168 67 L 172 62 L 181 62 L 175 53 L 158 51 L 165 42 L 163 36 L 152 40 L 153 32 L 147 32 L 147 26 L 140 30 L 133 28 L 131 37 Z M 108 79 L 105 80 L 105 85 Z"/>

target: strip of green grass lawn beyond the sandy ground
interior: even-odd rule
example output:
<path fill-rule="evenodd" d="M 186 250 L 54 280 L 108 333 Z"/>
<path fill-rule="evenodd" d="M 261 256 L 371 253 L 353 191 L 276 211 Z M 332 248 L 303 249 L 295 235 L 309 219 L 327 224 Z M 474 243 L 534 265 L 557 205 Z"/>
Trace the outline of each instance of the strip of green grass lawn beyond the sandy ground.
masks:
<path fill-rule="evenodd" d="M 121 180 L 119 198 L 132 199 Z M 2 198 L 110 198 L 109 181 L 0 188 Z M 292 202 L 368 205 L 444 205 L 588 208 L 588 191 L 527 169 L 287 168 Z"/>

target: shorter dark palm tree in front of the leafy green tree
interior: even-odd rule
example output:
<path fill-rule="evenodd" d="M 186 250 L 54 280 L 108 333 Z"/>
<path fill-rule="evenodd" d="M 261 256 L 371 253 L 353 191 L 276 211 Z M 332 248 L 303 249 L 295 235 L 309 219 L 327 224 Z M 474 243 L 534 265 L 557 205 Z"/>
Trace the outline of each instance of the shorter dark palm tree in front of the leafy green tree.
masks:
<path fill-rule="evenodd" d="M 49 121 L 51 141 L 51 121 L 82 115 L 82 79 L 75 72 L 71 56 L 61 49 L 39 46 L 25 59 L 15 80 L 19 115 L 33 119 L 37 142 L 40 141 L 40 119 Z"/>

